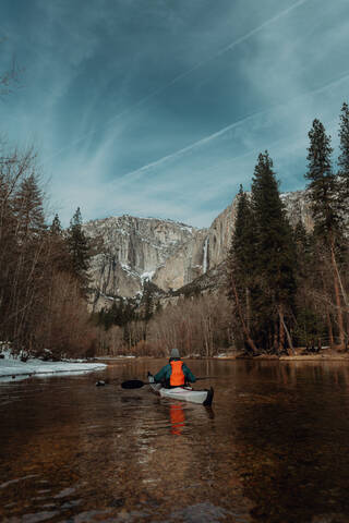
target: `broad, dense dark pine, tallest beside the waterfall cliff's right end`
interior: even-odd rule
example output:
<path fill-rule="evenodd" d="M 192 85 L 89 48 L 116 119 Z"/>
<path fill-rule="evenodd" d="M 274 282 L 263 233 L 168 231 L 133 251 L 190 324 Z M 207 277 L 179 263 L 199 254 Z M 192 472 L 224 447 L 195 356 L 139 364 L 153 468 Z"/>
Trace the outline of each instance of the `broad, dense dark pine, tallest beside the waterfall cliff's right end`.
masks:
<path fill-rule="evenodd" d="M 264 332 L 262 343 L 282 350 L 286 335 L 292 349 L 285 316 L 293 308 L 296 247 L 267 151 L 258 156 L 254 170 L 252 209 L 257 250 L 254 278 L 258 285 L 254 307 L 260 314 L 260 331 Z"/>

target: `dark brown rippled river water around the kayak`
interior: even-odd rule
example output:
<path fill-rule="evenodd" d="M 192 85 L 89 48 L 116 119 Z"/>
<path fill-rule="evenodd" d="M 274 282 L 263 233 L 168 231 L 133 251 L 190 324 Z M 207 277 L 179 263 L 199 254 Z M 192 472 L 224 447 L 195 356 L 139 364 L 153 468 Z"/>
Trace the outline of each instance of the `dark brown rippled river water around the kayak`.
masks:
<path fill-rule="evenodd" d="M 189 362 L 212 409 L 120 388 L 163 363 L 1 384 L 0 521 L 349 521 L 347 364 Z"/>

